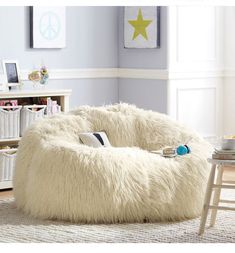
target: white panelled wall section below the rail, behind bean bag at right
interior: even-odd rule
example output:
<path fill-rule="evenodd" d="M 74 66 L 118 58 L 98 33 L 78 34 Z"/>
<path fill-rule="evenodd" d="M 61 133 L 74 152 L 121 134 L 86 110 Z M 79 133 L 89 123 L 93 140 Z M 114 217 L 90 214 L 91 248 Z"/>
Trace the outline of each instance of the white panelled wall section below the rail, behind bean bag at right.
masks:
<path fill-rule="evenodd" d="M 222 78 L 168 82 L 168 114 L 203 136 L 222 134 Z"/>

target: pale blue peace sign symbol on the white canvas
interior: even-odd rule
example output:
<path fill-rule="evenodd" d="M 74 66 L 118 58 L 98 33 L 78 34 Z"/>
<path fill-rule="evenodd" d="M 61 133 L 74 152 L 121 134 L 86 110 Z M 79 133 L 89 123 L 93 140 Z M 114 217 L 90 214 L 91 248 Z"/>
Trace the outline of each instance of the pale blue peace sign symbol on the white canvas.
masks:
<path fill-rule="evenodd" d="M 43 38 L 54 40 L 60 32 L 60 19 L 53 12 L 46 12 L 39 22 L 39 30 Z"/>

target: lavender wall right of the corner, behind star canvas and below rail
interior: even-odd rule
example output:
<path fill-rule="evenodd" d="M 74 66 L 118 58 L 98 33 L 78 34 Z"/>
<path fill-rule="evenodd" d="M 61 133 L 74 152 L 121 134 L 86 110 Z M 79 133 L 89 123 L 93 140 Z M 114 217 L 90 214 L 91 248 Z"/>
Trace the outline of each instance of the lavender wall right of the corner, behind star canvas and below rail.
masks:
<path fill-rule="evenodd" d="M 160 48 L 124 48 L 124 7 L 119 8 L 119 64 L 120 68 L 167 68 L 167 7 L 161 7 Z M 167 81 L 149 79 L 119 79 L 119 100 L 145 109 L 166 113 Z"/>

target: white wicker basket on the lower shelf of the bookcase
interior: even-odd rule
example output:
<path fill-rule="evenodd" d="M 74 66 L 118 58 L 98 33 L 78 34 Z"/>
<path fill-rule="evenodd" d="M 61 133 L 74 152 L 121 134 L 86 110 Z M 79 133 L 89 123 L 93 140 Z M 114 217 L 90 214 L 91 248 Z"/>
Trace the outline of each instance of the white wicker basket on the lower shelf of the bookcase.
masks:
<path fill-rule="evenodd" d="M 16 148 L 0 150 L 0 182 L 13 179 L 16 151 Z"/>

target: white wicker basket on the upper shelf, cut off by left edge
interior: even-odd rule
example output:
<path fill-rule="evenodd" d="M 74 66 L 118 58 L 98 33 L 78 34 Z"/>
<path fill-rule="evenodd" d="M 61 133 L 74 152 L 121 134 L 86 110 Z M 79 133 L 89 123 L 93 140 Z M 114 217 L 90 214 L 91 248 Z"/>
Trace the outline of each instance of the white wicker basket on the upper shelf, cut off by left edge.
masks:
<path fill-rule="evenodd" d="M 20 110 L 22 106 L 0 106 L 0 139 L 20 136 Z"/>

